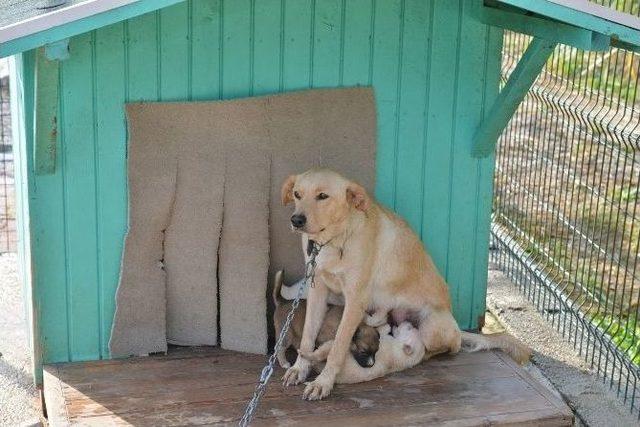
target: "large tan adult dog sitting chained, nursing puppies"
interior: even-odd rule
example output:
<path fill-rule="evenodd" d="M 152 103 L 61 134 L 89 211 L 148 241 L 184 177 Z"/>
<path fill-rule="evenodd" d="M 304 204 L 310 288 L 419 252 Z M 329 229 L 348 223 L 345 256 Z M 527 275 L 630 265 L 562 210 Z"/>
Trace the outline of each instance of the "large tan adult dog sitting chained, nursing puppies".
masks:
<path fill-rule="evenodd" d="M 425 357 L 501 348 L 516 359 L 528 350 L 515 340 L 461 332 L 451 314 L 449 290 L 420 239 L 392 212 L 376 204 L 364 188 L 336 172 L 311 170 L 290 176 L 282 186 L 282 202 L 295 201 L 292 228 L 322 245 L 317 257 L 316 286 L 309 290 L 300 349 L 311 352 L 325 315 L 329 291 L 342 294 L 345 308 L 327 362 L 307 384 L 303 397 L 329 395 L 344 364 L 349 343 L 366 310 L 400 309 L 418 320 Z M 306 251 L 305 251 L 306 253 Z M 285 385 L 305 381 L 310 362 L 298 357 L 283 377 Z"/>

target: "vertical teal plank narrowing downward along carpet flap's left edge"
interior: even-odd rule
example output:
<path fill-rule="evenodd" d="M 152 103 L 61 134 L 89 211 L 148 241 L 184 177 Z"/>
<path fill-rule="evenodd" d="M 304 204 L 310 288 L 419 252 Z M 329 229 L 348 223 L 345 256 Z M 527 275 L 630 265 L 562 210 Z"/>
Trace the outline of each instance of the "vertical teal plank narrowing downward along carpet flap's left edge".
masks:
<path fill-rule="evenodd" d="M 127 226 L 127 174 L 124 103 L 127 61 L 124 23 L 101 28 L 95 34 L 93 69 L 95 108 L 96 255 L 98 306 L 101 336 L 100 357 L 109 357 L 111 323 L 120 278 L 120 262 Z"/>

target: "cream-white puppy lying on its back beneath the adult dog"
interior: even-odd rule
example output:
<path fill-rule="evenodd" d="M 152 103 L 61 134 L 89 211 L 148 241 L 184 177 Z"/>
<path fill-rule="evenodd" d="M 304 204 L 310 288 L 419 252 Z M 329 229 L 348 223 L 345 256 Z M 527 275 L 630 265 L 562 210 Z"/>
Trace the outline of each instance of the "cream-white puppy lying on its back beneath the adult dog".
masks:
<path fill-rule="evenodd" d="M 393 330 L 388 324 L 385 324 L 378 331 L 380 332 L 380 348 L 376 354 L 375 365 L 363 368 L 353 357 L 347 356 L 342 369 L 336 376 L 336 383 L 353 384 L 371 381 L 387 374 L 412 368 L 422 361 L 424 345 L 418 330 L 411 323 L 403 322 L 394 326 Z M 332 345 L 333 340 L 327 341 L 311 353 L 300 350 L 299 354 L 313 362 L 314 367 L 321 369 L 320 362 L 327 359 Z"/>

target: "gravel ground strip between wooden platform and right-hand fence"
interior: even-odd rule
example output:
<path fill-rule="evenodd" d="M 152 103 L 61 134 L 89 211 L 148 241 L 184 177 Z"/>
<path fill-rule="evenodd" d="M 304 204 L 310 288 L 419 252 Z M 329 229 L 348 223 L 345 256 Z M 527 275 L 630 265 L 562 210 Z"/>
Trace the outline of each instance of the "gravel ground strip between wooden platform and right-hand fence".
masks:
<path fill-rule="evenodd" d="M 576 413 L 578 424 L 640 424 L 501 271 L 489 270 L 487 308 L 509 333 L 533 348 L 529 369 L 549 380 Z"/>

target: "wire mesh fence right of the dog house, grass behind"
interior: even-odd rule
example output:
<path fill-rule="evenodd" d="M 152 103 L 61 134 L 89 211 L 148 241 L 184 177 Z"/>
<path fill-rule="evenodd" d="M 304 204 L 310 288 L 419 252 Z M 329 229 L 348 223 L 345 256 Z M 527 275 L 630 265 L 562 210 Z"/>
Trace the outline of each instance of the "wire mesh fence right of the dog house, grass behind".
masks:
<path fill-rule="evenodd" d="M 505 33 L 503 82 L 529 40 Z M 498 143 L 491 233 L 492 261 L 634 412 L 639 72 L 632 52 L 556 48 Z"/>

